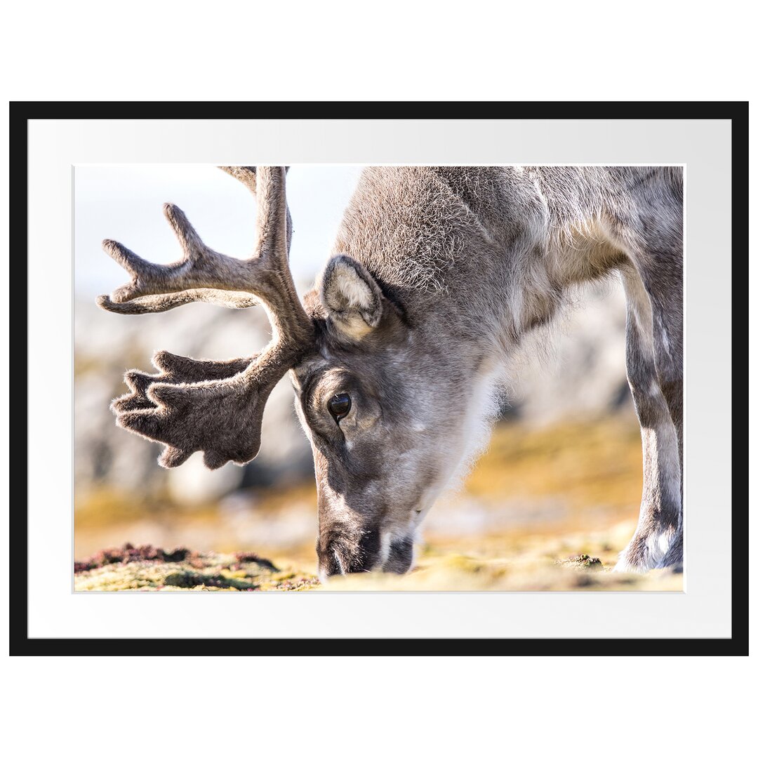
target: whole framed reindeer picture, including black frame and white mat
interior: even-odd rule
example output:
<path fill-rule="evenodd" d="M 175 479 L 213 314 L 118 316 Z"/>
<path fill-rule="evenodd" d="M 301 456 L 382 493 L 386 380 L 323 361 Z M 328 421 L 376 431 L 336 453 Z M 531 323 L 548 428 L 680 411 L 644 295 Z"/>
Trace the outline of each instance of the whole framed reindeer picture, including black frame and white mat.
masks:
<path fill-rule="evenodd" d="M 746 103 L 11 104 L 11 652 L 747 653 L 744 154 Z"/>

